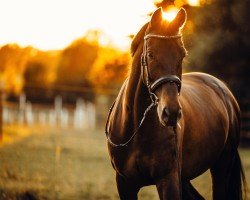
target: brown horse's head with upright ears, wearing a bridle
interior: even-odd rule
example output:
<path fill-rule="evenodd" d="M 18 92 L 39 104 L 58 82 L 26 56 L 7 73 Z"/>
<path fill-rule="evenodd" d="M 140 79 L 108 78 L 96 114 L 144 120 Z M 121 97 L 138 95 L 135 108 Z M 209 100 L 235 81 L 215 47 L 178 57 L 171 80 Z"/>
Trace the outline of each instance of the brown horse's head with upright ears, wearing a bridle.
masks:
<path fill-rule="evenodd" d="M 149 91 L 158 98 L 157 112 L 165 126 L 176 126 L 181 117 L 179 93 L 186 51 L 180 30 L 185 21 L 184 9 L 168 22 L 162 17 L 160 8 L 152 15 L 144 38 L 142 77 Z"/>

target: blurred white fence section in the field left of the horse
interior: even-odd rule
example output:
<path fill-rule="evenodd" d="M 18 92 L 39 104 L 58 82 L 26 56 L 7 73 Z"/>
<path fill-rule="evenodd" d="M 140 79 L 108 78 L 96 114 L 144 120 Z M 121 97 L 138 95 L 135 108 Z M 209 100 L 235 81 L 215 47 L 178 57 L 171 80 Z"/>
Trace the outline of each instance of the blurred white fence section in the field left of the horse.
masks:
<path fill-rule="evenodd" d="M 93 103 L 78 99 L 76 105 L 63 105 L 57 96 L 54 105 L 32 104 L 22 94 L 18 103 L 4 102 L 3 124 L 44 125 L 58 128 L 89 129 L 96 126 L 96 108 Z"/>

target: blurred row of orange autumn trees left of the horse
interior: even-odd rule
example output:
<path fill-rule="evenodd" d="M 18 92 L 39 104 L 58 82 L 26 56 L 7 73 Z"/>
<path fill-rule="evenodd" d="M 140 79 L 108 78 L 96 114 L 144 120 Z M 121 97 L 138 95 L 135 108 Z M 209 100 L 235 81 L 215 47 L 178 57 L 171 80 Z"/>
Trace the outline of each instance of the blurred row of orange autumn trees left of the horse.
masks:
<path fill-rule="evenodd" d="M 7 44 L 0 48 L 0 81 L 10 100 L 26 93 L 32 102 L 51 102 L 58 94 L 66 101 L 92 100 L 97 90 L 116 90 L 126 76 L 128 52 L 99 42 L 89 31 L 68 47 L 41 51 Z M 84 90 L 82 90 L 84 89 Z"/>

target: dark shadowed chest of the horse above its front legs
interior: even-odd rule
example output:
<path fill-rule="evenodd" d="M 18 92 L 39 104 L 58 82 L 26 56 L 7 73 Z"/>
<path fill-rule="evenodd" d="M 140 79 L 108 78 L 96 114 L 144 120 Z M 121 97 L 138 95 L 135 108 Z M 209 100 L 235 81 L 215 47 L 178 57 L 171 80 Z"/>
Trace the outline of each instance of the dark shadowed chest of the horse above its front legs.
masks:
<path fill-rule="evenodd" d="M 119 158 L 114 158 L 115 169 L 127 177 L 156 179 L 169 173 L 176 156 L 174 138 L 161 142 L 152 140 L 137 143 L 132 149 L 123 150 Z"/>

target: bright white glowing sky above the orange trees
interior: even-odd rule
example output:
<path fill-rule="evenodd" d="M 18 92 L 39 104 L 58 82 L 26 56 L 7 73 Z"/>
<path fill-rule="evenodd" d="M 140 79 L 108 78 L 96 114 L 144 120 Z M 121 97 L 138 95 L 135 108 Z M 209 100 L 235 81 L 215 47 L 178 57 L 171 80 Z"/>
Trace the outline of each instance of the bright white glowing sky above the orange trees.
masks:
<path fill-rule="evenodd" d="M 126 48 L 127 36 L 136 33 L 154 9 L 152 0 L 0 0 L 0 46 L 61 49 L 86 30 L 99 29 Z"/>

